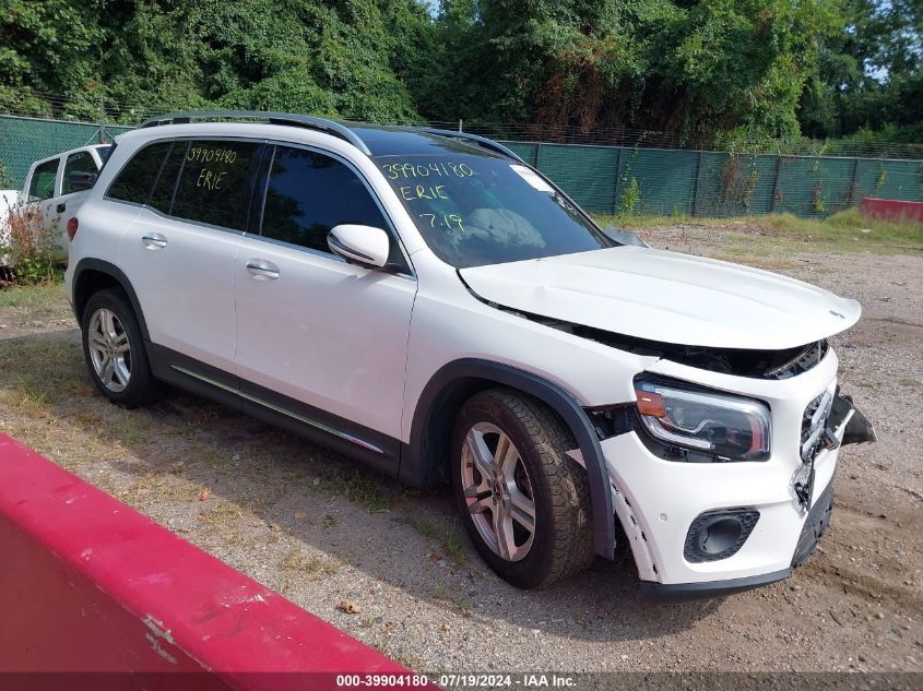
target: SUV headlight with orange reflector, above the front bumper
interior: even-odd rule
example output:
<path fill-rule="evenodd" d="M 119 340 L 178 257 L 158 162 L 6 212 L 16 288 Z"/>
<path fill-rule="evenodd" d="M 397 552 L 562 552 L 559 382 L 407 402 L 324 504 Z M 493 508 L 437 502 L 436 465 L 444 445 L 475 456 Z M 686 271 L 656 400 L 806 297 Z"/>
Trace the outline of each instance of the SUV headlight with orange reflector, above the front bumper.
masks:
<path fill-rule="evenodd" d="M 769 456 L 769 406 L 761 401 L 652 378 L 636 379 L 635 395 L 644 429 L 667 446 L 687 450 L 690 461 Z"/>

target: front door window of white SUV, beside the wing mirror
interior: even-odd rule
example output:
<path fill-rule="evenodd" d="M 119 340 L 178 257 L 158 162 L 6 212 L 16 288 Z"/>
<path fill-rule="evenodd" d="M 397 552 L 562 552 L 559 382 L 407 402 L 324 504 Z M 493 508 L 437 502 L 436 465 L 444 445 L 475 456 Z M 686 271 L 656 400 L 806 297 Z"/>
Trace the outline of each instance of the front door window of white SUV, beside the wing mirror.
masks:
<path fill-rule="evenodd" d="M 304 148 L 276 147 L 262 235 L 330 253 L 327 234 L 343 223 L 388 229 L 365 184 L 344 163 Z"/>

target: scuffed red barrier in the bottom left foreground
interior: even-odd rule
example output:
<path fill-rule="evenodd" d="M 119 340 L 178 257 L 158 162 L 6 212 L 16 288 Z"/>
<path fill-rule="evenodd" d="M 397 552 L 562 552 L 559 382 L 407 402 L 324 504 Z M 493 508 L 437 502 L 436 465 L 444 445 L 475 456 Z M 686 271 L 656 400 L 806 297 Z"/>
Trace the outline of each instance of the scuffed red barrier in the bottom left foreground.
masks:
<path fill-rule="evenodd" d="M 36 671 L 69 674 L 9 674 Z M 343 674 L 411 675 L 0 434 L 0 688 L 282 691 Z"/>

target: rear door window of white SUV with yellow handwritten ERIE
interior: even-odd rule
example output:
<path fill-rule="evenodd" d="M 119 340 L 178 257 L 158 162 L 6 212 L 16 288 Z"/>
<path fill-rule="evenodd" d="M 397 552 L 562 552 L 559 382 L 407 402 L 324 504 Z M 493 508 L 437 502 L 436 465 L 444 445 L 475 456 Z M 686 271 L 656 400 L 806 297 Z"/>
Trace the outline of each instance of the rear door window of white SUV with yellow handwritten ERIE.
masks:
<path fill-rule="evenodd" d="M 190 142 L 170 214 L 244 230 L 250 203 L 250 174 L 261 146 L 257 142 Z"/>

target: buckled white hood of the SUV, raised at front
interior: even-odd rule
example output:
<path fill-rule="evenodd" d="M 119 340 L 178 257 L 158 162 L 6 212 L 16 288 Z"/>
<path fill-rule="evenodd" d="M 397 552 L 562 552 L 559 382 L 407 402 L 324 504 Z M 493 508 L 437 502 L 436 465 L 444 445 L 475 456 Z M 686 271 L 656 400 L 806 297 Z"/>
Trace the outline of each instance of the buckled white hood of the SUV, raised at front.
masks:
<path fill-rule="evenodd" d="M 712 259 L 617 247 L 459 271 L 500 306 L 662 343 L 783 349 L 852 326 L 857 301 Z"/>

